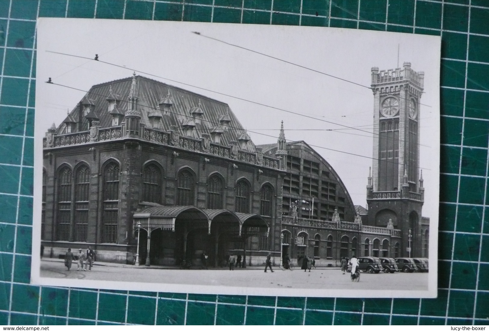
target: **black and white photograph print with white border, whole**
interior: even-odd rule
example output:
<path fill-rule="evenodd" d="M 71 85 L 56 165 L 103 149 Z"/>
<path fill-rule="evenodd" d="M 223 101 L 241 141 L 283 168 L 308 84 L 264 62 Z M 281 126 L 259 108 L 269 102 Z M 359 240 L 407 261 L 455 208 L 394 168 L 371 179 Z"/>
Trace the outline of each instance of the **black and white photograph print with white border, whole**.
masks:
<path fill-rule="evenodd" d="M 39 19 L 32 283 L 436 297 L 440 40 Z"/>

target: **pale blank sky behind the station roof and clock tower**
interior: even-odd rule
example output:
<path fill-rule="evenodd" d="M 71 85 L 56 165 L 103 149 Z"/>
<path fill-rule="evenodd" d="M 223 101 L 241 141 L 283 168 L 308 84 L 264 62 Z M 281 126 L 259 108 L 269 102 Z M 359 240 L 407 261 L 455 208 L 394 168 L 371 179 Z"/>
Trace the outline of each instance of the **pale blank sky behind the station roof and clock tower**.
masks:
<path fill-rule="evenodd" d="M 98 54 L 101 61 L 121 67 L 51 52 L 90 59 Z M 53 122 L 59 125 L 66 118 L 67 110 L 86 94 L 83 91 L 135 71 L 228 103 L 255 145 L 275 143 L 284 121 L 286 139 L 311 145 L 333 166 L 354 204 L 365 206 L 373 162 L 371 67 L 392 69 L 403 62 L 425 73 L 420 109 L 422 216 L 437 219 L 440 39 L 435 36 L 323 27 L 42 18 L 36 63 L 36 168 L 42 164 L 40 138 Z M 49 77 L 71 88 L 43 83 Z"/>

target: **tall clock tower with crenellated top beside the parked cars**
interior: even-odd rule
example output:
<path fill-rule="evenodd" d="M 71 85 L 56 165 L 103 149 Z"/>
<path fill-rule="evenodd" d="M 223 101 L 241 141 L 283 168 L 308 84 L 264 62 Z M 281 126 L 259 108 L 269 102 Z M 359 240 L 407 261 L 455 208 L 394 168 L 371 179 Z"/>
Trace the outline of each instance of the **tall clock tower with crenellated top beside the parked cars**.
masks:
<path fill-rule="evenodd" d="M 398 247 L 391 247 L 399 257 L 424 255 L 419 149 L 423 80 L 424 73 L 411 69 L 410 62 L 403 68 L 372 68 L 374 146 L 367 225 L 399 229 Z"/>

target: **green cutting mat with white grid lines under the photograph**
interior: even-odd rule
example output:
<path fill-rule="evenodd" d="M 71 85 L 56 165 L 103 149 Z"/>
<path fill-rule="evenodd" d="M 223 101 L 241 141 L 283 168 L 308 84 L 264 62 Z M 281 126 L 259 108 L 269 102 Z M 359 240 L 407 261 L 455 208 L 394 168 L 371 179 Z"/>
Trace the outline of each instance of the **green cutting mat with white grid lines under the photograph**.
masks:
<path fill-rule="evenodd" d="M 216 296 L 29 285 L 37 17 L 441 35 L 438 298 Z M 488 22 L 489 0 L 0 0 L 0 324 L 488 325 Z"/>

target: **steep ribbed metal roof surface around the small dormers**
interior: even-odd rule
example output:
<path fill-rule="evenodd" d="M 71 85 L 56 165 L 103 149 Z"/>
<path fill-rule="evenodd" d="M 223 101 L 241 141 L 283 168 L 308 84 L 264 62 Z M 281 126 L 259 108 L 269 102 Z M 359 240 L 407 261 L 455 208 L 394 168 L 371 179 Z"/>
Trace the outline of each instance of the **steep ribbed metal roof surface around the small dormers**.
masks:
<path fill-rule="evenodd" d="M 200 107 L 203 114 L 201 115 L 200 123 L 195 125 L 198 136 L 203 133 L 210 134 L 211 129 L 219 125 L 222 119 L 229 120 L 230 123 L 228 124 L 228 129 L 223 130 L 221 145 L 230 145 L 231 141 L 236 141 L 237 137 L 246 132 L 226 103 L 146 77 L 136 76 L 135 79 L 137 86 L 131 86 L 132 77 L 128 77 L 93 85 L 90 88 L 89 93 L 83 98 L 83 103 L 90 104 L 93 107 L 93 113 L 100 119 L 99 125 L 101 127 L 110 127 L 112 125 L 112 115 L 109 112 L 107 98 L 110 95 L 112 97 L 118 96 L 116 100 L 117 109 L 120 113 L 126 113 L 128 96 L 130 91 L 133 90 L 133 93 L 137 91 L 137 109 L 141 112 L 141 123 L 148 127 L 152 127 L 148 115 L 158 109 L 158 103 L 166 103 L 171 105 L 168 107 L 169 114 L 163 115 L 161 119 L 162 125 L 160 127 L 163 130 L 169 130 L 172 125 L 176 125 L 178 126 L 179 134 L 183 135 L 181 124 L 185 120 L 192 118 L 190 113 L 192 108 Z M 78 104 L 70 115 L 78 120 Z M 61 134 L 64 127 L 65 124 L 61 124 L 57 128 L 57 133 Z M 86 119 L 82 119 L 81 130 L 88 130 L 88 121 Z M 252 141 L 248 142 L 247 149 L 255 150 L 255 145 Z"/>

